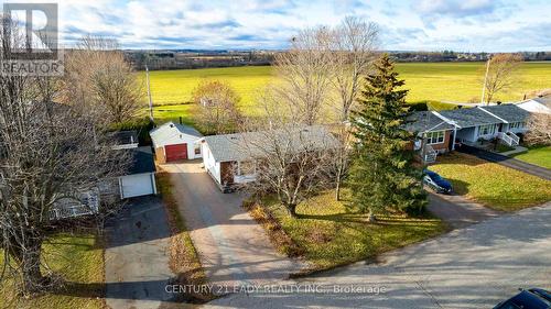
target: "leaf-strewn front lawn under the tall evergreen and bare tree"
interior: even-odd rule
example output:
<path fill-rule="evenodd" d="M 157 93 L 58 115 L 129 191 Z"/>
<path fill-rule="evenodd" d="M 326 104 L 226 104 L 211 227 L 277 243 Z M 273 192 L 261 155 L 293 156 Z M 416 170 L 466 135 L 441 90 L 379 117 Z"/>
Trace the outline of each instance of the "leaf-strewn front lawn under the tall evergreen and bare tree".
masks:
<path fill-rule="evenodd" d="M 349 192 L 345 189 L 343 196 Z M 311 271 L 327 269 L 376 255 L 445 231 L 445 224 L 432 217 L 408 218 L 401 214 L 378 217 L 367 223 L 367 216 L 348 213 L 343 201 L 335 201 L 333 191 L 298 206 L 299 219 L 291 218 L 274 199 L 263 202 L 282 230 L 299 246 Z M 266 227 L 264 227 L 266 228 Z M 266 229 L 268 233 L 272 229 Z M 278 229 L 273 229 L 278 230 Z M 277 244 L 278 245 L 278 244 Z M 280 251 L 284 252 L 287 247 Z"/>

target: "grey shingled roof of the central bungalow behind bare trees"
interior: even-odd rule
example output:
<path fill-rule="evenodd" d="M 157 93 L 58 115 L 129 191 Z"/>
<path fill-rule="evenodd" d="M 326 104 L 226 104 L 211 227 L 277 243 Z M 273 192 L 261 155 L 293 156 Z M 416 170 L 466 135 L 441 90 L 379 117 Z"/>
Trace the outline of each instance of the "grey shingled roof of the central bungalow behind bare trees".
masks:
<path fill-rule="evenodd" d="M 271 139 L 269 143 L 266 143 Z M 301 129 L 246 132 L 236 134 L 205 136 L 205 142 L 216 162 L 246 161 L 261 157 L 269 151 L 272 141 L 289 145 L 289 150 L 299 152 L 307 148 L 329 148 L 338 145 L 325 128 L 320 125 Z"/>

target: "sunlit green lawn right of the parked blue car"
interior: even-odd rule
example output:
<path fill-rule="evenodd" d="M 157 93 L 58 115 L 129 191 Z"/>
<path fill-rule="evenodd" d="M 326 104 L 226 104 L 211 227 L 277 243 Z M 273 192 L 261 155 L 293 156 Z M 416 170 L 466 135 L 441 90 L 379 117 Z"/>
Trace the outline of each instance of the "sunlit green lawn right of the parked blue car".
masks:
<path fill-rule="evenodd" d="M 503 211 L 515 211 L 551 200 L 551 181 L 466 155 L 439 156 L 430 169 L 452 181 L 454 190 Z"/>

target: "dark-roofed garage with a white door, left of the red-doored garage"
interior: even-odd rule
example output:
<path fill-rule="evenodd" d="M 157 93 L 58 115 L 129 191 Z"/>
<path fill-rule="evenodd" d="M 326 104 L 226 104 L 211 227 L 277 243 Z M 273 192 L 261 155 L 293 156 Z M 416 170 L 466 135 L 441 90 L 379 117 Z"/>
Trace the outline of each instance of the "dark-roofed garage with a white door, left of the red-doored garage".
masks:
<path fill-rule="evenodd" d="M 151 147 L 136 147 L 131 152 L 132 164 L 125 176 L 119 177 L 120 198 L 156 195 L 155 164 Z"/>

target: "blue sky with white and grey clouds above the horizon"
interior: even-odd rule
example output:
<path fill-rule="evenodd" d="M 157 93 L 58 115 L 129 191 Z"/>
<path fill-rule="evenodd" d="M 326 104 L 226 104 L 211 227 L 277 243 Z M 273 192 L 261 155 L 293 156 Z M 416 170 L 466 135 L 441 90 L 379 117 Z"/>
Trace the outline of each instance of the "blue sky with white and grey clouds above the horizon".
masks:
<path fill-rule="evenodd" d="M 83 34 L 97 34 L 118 38 L 125 48 L 285 48 L 302 27 L 333 25 L 346 15 L 358 15 L 379 24 L 385 49 L 551 51 L 550 0 L 58 3 L 67 45 Z"/>

